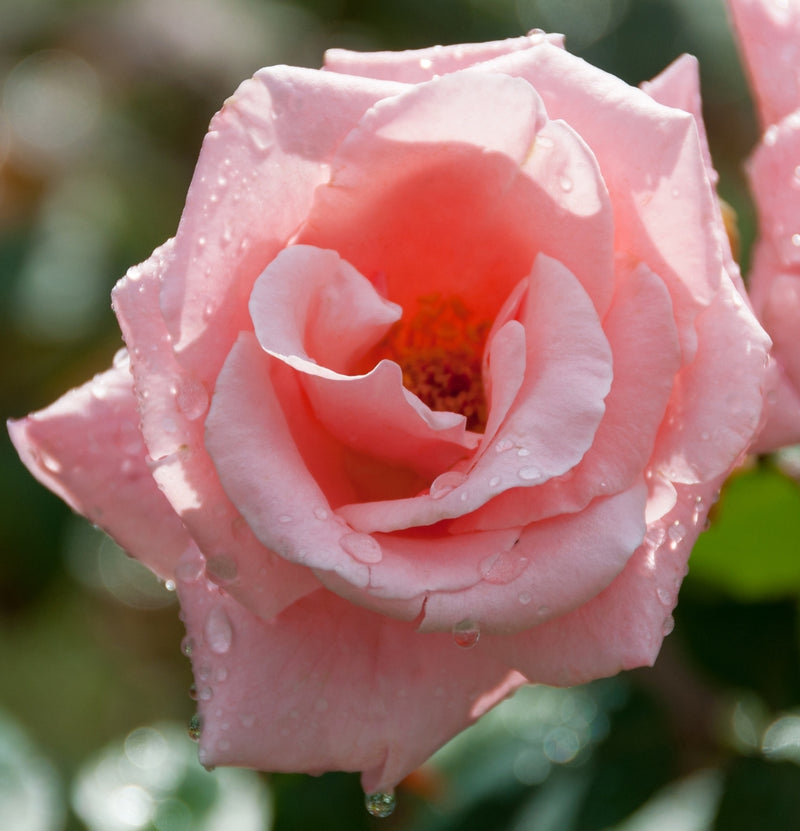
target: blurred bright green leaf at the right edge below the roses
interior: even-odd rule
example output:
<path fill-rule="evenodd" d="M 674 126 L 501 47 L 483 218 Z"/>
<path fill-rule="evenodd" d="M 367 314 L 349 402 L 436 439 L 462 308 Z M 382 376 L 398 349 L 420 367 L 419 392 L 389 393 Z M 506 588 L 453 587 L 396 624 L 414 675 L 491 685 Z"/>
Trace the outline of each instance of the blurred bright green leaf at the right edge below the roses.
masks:
<path fill-rule="evenodd" d="M 739 600 L 800 593 L 800 487 L 773 468 L 732 477 L 697 541 L 689 579 Z"/>

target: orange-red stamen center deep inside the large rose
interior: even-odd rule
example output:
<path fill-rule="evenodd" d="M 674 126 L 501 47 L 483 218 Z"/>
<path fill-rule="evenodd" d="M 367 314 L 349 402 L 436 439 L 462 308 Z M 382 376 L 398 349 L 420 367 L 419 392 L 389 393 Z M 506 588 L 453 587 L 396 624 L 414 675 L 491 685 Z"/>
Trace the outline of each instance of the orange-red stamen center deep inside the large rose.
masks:
<path fill-rule="evenodd" d="M 380 357 L 396 361 L 403 384 L 432 410 L 461 413 L 467 428 L 486 426 L 481 361 L 491 321 L 479 320 L 458 297 L 417 299 L 414 313 L 384 338 Z"/>

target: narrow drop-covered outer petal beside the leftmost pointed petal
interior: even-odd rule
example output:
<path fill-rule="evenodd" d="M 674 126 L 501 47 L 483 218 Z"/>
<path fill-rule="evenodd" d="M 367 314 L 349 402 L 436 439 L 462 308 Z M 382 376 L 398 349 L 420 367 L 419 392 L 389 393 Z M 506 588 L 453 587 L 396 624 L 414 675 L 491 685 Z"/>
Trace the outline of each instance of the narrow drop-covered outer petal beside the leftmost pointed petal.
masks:
<path fill-rule="evenodd" d="M 222 490 L 203 444 L 207 387 L 177 363 L 159 310 L 161 277 L 172 256 L 167 243 L 113 292 L 130 349 L 142 434 L 155 459 L 153 477 L 202 549 L 209 576 L 269 618 L 318 584 L 307 570 L 261 546 Z"/>

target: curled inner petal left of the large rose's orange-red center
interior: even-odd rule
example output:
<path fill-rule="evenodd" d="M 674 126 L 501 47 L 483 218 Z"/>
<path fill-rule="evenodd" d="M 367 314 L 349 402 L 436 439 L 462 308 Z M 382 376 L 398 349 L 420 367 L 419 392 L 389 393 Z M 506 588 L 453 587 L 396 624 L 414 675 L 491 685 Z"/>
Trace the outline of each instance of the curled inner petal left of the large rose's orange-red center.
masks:
<path fill-rule="evenodd" d="M 382 361 L 357 376 L 328 369 L 349 368 L 400 315 L 335 251 L 285 249 L 256 282 L 250 310 L 261 346 L 297 370 L 319 422 L 347 447 L 428 481 L 475 447 L 466 419 L 410 395 L 397 364 Z M 334 325 L 343 318 L 346 327 Z"/>

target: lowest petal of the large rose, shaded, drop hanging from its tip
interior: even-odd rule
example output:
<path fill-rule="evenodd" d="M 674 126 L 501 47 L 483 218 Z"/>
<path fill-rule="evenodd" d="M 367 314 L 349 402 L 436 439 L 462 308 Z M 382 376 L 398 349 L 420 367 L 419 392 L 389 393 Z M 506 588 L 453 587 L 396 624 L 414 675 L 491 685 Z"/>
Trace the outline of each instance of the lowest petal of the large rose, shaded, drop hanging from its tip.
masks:
<path fill-rule="evenodd" d="M 525 680 L 490 650 L 325 590 L 268 622 L 203 580 L 178 592 L 198 691 L 210 687 L 198 701 L 205 765 L 361 770 L 365 791 L 389 791 Z"/>

